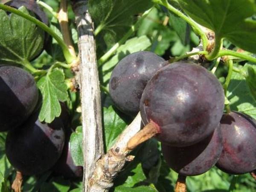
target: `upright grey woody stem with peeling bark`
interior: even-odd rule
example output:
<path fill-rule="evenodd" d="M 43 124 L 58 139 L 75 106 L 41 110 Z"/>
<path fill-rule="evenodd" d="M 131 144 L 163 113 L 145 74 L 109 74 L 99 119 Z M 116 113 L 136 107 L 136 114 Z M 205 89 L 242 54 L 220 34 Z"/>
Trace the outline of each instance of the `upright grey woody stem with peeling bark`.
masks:
<path fill-rule="evenodd" d="M 102 111 L 100 102 L 99 74 L 93 22 L 88 13 L 87 0 L 73 5 L 79 36 L 80 69 L 78 83 L 81 96 L 81 113 L 84 149 L 84 192 L 88 191 L 89 180 L 95 163 L 104 155 L 102 139 Z"/>

